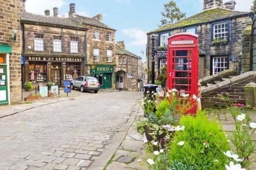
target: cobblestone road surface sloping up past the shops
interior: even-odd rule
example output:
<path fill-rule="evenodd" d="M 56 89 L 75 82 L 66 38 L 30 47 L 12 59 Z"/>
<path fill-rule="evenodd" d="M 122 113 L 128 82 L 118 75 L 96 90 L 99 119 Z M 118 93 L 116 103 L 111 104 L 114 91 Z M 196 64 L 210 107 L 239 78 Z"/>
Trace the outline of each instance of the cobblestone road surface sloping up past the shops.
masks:
<path fill-rule="evenodd" d="M 0 119 L 0 169 L 87 169 L 142 94 L 84 93 Z"/>

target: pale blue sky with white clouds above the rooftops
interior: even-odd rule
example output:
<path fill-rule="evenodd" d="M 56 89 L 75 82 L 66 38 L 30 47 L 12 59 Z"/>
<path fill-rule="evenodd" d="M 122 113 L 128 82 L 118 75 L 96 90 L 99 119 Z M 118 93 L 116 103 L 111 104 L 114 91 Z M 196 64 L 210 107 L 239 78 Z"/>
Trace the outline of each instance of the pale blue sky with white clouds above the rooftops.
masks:
<path fill-rule="evenodd" d="M 186 17 L 202 12 L 204 0 L 176 0 Z M 226 2 L 228 0 L 223 0 Z M 93 17 L 103 15 L 103 23 L 116 31 L 115 41 L 125 41 L 126 49 L 145 61 L 147 32 L 158 28 L 162 19 L 163 4 L 168 0 L 27 0 L 26 12 L 44 15 L 46 9 L 58 7 L 59 14 L 69 11 L 69 4 L 76 4 L 76 13 Z M 253 0 L 236 0 L 236 10 L 250 11 Z M 141 52 L 143 51 L 143 52 Z"/>

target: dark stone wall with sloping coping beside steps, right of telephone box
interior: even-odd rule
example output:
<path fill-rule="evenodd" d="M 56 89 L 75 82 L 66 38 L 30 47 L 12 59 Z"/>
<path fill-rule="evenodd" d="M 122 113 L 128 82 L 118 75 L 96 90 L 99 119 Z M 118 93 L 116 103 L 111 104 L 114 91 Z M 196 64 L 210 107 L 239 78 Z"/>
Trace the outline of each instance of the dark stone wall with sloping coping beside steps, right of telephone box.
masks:
<path fill-rule="evenodd" d="M 226 93 L 229 93 L 229 98 L 232 103 L 245 104 L 244 86 L 250 82 L 256 83 L 256 71 L 249 71 L 217 85 L 210 86 L 211 90 L 202 92 L 202 107 L 225 106 L 225 103 L 219 98 L 219 95 L 225 95 Z"/>

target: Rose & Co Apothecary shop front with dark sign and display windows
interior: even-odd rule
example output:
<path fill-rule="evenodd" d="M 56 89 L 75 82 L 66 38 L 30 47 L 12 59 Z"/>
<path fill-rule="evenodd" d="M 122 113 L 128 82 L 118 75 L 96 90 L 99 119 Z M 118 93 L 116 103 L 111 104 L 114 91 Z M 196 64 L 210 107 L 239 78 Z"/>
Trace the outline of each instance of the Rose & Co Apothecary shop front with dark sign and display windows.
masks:
<path fill-rule="evenodd" d="M 63 84 L 84 75 L 84 57 L 24 56 L 23 82 Z"/>

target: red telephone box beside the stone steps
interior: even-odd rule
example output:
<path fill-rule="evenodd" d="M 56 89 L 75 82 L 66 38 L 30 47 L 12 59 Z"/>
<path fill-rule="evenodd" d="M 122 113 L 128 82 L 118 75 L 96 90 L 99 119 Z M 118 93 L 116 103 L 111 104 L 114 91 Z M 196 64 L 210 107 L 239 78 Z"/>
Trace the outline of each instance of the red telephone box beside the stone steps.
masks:
<path fill-rule="evenodd" d="M 167 87 L 177 89 L 180 96 L 197 96 L 198 92 L 198 35 L 179 33 L 168 38 Z M 197 107 L 190 113 L 196 113 Z"/>

